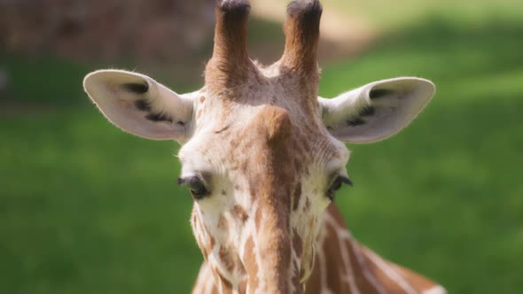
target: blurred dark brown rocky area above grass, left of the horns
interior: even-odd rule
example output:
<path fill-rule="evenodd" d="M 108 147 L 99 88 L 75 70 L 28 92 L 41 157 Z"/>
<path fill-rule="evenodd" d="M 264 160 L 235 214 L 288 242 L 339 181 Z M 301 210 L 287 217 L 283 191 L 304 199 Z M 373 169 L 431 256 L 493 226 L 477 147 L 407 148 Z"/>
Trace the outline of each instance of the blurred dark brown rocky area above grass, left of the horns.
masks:
<path fill-rule="evenodd" d="M 213 27 L 210 0 L 0 0 L 0 48 L 30 55 L 176 60 Z"/>

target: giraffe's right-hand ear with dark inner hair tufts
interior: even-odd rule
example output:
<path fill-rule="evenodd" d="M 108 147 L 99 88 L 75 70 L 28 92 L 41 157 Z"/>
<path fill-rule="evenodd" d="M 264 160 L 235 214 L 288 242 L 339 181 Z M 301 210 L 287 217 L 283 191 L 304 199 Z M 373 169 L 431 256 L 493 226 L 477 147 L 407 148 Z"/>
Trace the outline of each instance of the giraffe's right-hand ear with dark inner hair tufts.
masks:
<path fill-rule="evenodd" d="M 374 81 L 333 99 L 318 99 L 324 125 L 333 136 L 347 143 L 372 143 L 407 127 L 434 92 L 431 81 L 396 78 Z"/>

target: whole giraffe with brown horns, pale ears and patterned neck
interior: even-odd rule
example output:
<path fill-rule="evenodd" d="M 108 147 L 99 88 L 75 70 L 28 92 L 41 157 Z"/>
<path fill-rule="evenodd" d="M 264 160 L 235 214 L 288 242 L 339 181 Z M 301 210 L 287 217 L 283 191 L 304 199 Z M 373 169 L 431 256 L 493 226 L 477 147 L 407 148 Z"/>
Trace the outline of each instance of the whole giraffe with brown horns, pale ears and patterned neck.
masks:
<path fill-rule="evenodd" d="M 351 184 L 345 143 L 396 134 L 435 87 L 402 77 L 318 97 L 322 10 L 318 0 L 288 4 L 284 54 L 262 66 L 246 51 L 249 2 L 216 1 L 213 56 L 192 93 L 121 70 L 84 79 L 115 126 L 182 145 L 178 183 L 194 200 L 205 259 L 192 293 L 446 293 L 357 243 L 333 203 Z"/>

